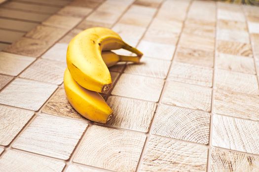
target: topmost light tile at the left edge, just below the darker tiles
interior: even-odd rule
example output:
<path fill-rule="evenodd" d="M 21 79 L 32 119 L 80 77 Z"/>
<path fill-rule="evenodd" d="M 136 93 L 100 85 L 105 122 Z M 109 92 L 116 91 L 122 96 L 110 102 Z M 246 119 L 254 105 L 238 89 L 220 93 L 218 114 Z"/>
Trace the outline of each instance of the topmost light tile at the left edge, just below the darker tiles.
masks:
<path fill-rule="evenodd" d="M 20 56 L 5 52 L 0 52 L 0 73 L 6 75 L 17 76 L 27 66 L 29 66 L 35 58 Z"/>

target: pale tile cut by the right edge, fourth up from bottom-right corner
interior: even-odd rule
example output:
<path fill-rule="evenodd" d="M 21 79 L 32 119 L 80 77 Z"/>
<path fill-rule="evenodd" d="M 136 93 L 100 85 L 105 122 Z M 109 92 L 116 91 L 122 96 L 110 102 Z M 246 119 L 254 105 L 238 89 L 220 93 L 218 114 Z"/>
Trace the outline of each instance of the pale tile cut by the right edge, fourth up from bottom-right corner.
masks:
<path fill-rule="evenodd" d="M 259 95 L 256 75 L 218 69 L 215 71 L 215 88 Z"/>

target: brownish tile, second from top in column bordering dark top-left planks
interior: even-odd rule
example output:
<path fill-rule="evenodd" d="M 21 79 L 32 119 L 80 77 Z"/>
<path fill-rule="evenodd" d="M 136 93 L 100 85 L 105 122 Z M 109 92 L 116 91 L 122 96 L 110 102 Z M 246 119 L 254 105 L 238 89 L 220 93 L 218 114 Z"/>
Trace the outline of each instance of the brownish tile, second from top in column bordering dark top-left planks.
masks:
<path fill-rule="evenodd" d="M 67 5 L 64 8 L 62 8 L 61 10 L 59 10 L 57 14 L 62 15 L 62 16 L 84 18 L 90 12 L 92 12 L 91 8 Z"/>

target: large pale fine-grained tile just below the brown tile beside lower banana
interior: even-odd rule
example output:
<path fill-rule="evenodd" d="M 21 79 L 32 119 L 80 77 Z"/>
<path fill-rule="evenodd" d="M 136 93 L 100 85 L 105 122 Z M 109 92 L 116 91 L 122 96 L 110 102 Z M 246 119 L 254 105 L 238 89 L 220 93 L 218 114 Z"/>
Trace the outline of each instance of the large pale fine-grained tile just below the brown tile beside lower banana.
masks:
<path fill-rule="evenodd" d="M 86 127 L 85 121 L 38 114 L 12 147 L 67 160 Z"/>

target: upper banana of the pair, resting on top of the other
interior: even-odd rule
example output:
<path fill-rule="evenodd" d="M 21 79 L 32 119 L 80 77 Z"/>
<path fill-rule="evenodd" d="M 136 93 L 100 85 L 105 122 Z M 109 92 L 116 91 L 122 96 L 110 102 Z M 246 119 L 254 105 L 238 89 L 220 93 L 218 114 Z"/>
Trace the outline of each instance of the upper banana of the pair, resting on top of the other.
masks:
<path fill-rule="evenodd" d="M 70 41 L 67 50 L 67 65 L 72 77 L 86 89 L 109 92 L 112 87 L 111 74 L 101 53 L 120 48 L 135 53 L 138 58 L 143 55 L 136 48 L 126 44 L 111 29 L 91 28 L 78 33 Z M 124 57 L 121 56 L 119 59 Z"/>

